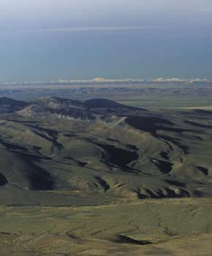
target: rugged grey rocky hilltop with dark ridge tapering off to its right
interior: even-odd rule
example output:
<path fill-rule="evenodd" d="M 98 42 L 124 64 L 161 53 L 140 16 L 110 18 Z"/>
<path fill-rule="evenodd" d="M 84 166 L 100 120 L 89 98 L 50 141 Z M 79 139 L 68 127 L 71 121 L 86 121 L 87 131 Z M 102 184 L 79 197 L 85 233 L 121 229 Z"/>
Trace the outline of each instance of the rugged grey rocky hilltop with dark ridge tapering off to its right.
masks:
<path fill-rule="evenodd" d="M 42 117 L 67 120 L 94 120 L 96 114 L 140 115 L 145 109 L 124 106 L 107 99 L 91 99 L 85 102 L 67 98 L 39 98 L 18 111 L 24 117 Z"/>

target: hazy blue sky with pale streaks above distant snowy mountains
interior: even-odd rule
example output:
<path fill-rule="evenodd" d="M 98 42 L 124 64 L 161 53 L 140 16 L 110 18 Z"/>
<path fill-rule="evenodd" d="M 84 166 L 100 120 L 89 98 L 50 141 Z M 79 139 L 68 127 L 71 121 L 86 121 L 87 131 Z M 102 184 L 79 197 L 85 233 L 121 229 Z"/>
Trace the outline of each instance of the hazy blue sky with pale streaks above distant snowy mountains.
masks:
<path fill-rule="evenodd" d="M 211 0 L 0 1 L 0 82 L 212 78 Z"/>

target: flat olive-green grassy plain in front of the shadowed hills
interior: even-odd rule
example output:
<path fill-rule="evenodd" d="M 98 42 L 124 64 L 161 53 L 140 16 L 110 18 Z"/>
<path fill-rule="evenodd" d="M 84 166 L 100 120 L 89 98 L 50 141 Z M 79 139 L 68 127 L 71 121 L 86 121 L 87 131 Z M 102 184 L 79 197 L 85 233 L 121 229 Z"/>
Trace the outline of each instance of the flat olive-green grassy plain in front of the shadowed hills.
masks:
<path fill-rule="evenodd" d="M 77 207 L 0 207 L 0 255 L 212 253 L 212 199 L 136 200 Z"/>

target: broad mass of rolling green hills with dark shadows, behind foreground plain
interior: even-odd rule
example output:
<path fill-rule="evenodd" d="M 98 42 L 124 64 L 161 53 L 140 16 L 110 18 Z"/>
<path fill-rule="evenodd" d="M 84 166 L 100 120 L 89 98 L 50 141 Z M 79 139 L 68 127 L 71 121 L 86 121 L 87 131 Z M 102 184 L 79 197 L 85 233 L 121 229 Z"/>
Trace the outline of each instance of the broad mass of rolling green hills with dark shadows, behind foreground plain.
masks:
<path fill-rule="evenodd" d="M 105 99 L 21 104 L 9 114 L 1 109 L 1 205 L 212 194 L 209 112 L 168 117 Z"/>

